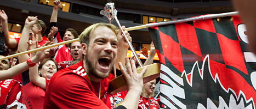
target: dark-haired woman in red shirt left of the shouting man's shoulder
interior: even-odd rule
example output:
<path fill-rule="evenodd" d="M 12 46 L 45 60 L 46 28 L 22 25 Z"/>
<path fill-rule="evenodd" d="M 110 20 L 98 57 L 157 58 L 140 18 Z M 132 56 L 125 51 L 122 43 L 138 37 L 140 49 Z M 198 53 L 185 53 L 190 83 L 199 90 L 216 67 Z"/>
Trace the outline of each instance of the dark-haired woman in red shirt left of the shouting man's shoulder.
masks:
<path fill-rule="evenodd" d="M 43 108 L 45 90 L 50 78 L 58 70 L 56 65 L 54 59 L 47 58 L 42 61 L 39 68 L 37 65 L 30 68 L 30 82 L 22 86 L 22 104 L 25 104 L 27 108 Z"/>

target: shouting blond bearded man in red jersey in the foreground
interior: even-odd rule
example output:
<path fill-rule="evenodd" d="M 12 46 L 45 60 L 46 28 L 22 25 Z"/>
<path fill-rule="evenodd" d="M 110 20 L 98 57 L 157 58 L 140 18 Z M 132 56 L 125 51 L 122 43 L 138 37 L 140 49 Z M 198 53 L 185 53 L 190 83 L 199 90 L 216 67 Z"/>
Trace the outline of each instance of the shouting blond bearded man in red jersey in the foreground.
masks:
<path fill-rule="evenodd" d="M 96 23 L 84 30 L 79 37 L 83 60 L 53 75 L 45 93 L 44 108 L 109 108 L 105 95 L 114 78 L 110 72 L 117 58 L 116 29 L 109 23 Z M 128 57 L 125 60 L 127 70 L 121 62 L 119 66 L 128 92 L 117 108 L 137 108 L 146 68 L 138 74 L 134 60 L 131 64 Z"/>

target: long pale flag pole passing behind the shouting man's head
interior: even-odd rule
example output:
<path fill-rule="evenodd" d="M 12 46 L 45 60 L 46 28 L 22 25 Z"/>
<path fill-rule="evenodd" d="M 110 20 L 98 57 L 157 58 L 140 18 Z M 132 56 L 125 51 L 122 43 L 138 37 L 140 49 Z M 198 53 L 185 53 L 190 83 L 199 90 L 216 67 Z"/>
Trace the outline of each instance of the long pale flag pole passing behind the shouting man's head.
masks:
<path fill-rule="evenodd" d="M 226 17 L 226 16 L 234 16 L 234 15 L 238 15 L 238 11 L 234 11 L 234 12 L 230 12 L 230 13 L 221 13 L 221 14 L 201 15 L 201 16 L 191 17 L 191 18 L 181 19 L 181 20 L 172 20 L 172 21 L 166 21 L 166 22 L 149 23 L 149 24 L 141 25 L 141 26 L 128 27 L 128 28 L 126 28 L 126 31 L 133 31 L 133 30 L 137 30 L 137 29 L 150 28 L 150 27 L 155 27 L 155 26 L 170 25 L 170 24 L 174 24 L 174 23 L 190 22 L 190 21 L 205 20 L 205 19 L 213 19 L 213 18 L 218 18 L 218 17 Z M 118 32 L 118 31 L 119 30 L 117 30 L 116 32 Z M 55 47 L 55 46 L 59 46 L 59 45 L 73 43 L 75 41 L 78 41 L 78 38 L 68 40 L 68 41 L 63 41 L 61 43 L 56 43 L 56 44 L 52 44 L 52 45 L 48 45 L 48 46 L 39 47 L 37 49 L 33 49 L 33 50 L 25 51 L 25 52 L 12 54 L 10 56 L 0 58 L 0 60 L 13 58 L 13 57 L 20 56 L 22 54 L 36 52 L 36 51 L 40 51 L 40 50 L 44 50 L 44 49 L 49 49 L 50 47 Z"/>

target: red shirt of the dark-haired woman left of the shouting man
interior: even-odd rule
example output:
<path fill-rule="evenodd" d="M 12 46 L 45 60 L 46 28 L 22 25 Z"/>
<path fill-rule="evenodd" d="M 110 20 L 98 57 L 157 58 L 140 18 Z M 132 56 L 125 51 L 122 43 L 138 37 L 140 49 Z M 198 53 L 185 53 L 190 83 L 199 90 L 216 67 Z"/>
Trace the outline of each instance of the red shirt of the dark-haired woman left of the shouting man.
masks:
<path fill-rule="evenodd" d="M 45 78 L 46 87 L 48 87 L 49 80 Z M 22 86 L 22 104 L 27 108 L 43 108 L 45 90 L 36 86 L 34 83 L 29 82 Z"/>

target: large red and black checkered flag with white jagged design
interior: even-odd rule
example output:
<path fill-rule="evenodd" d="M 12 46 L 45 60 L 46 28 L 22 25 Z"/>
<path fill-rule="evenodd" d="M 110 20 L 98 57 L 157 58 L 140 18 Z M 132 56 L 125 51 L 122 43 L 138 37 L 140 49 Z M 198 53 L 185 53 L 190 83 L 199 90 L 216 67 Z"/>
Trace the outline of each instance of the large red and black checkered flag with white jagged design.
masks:
<path fill-rule="evenodd" d="M 256 57 L 238 16 L 149 30 L 161 63 L 161 108 L 255 108 Z"/>

